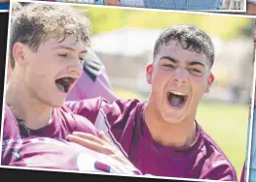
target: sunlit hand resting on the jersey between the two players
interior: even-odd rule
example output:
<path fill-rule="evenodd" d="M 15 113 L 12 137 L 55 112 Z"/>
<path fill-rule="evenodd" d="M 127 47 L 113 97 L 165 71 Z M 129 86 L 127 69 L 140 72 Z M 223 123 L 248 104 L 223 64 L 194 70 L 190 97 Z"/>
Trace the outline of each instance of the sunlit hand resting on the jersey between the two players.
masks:
<path fill-rule="evenodd" d="M 95 152 L 106 154 L 129 167 L 134 167 L 126 158 L 126 156 L 110 141 L 110 139 L 100 132 L 99 137 L 92 136 L 82 132 L 74 132 L 72 135 L 66 136 L 69 141 L 78 143 Z"/>

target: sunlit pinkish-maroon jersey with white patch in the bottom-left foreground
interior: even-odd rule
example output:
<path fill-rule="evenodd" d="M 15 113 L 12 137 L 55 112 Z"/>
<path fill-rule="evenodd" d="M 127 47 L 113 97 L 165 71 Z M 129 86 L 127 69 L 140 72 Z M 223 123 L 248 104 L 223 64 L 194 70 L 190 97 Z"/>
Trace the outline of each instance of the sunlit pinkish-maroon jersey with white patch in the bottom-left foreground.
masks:
<path fill-rule="evenodd" d="M 124 166 L 107 155 L 68 142 L 61 137 L 20 136 L 18 123 L 8 106 L 5 109 L 1 165 L 141 174 L 134 167 Z"/>

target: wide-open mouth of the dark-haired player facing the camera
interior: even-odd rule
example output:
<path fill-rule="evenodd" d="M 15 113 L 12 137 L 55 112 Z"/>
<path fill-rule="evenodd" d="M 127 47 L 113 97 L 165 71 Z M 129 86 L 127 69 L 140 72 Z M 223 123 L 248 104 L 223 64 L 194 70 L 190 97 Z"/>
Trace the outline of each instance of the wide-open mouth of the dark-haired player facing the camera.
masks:
<path fill-rule="evenodd" d="M 170 106 L 181 108 L 188 100 L 188 96 L 182 92 L 170 91 L 167 93 L 167 99 Z"/>

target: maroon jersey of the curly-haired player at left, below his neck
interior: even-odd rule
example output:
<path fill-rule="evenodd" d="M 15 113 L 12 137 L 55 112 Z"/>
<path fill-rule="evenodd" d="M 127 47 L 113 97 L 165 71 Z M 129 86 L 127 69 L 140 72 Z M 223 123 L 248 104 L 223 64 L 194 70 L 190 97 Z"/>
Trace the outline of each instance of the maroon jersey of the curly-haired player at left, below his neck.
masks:
<path fill-rule="evenodd" d="M 65 139 L 67 135 L 76 131 L 98 136 L 97 130 L 88 119 L 73 114 L 66 106 L 53 108 L 50 123 L 39 130 L 28 129 L 29 136 L 20 134 L 18 121 L 9 106 L 5 106 L 4 118 L 2 165 L 9 165 L 11 160 L 11 149 L 6 150 L 6 148 L 18 147 L 22 144 L 22 139 L 26 137 L 37 136 Z"/>

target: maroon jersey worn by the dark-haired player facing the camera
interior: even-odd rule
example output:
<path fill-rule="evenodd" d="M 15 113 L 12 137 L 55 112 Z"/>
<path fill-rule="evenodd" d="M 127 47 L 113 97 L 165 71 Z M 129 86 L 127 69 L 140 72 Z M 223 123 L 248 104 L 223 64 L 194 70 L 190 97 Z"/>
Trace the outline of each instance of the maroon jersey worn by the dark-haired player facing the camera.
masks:
<path fill-rule="evenodd" d="M 187 148 L 164 147 L 156 143 L 144 120 L 145 102 L 102 98 L 69 102 L 75 114 L 87 117 L 128 156 L 142 173 L 184 178 L 237 181 L 237 173 L 213 139 L 197 123 L 197 141 Z"/>

